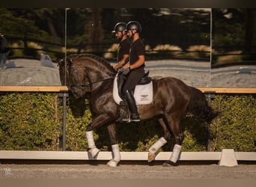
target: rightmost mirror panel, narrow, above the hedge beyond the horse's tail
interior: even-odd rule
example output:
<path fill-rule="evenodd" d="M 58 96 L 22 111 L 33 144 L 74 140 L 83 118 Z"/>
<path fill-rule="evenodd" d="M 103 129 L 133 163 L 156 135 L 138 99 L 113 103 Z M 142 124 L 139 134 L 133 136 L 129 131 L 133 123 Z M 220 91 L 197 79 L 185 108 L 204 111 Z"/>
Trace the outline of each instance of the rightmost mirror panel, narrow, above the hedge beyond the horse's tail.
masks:
<path fill-rule="evenodd" d="M 211 87 L 256 87 L 256 9 L 213 8 Z"/>

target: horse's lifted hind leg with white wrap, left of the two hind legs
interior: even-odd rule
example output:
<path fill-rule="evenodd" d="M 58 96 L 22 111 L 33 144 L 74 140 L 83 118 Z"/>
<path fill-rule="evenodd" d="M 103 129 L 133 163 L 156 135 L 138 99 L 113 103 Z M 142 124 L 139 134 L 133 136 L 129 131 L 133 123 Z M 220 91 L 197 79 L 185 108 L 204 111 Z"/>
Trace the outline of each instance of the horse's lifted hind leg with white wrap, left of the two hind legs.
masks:
<path fill-rule="evenodd" d="M 147 162 L 152 162 L 157 155 L 157 151 L 164 146 L 167 141 L 171 138 L 171 133 L 168 130 L 168 126 L 166 126 L 166 123 L 164 121 L 164 119 L 161 117 L 159 118 L 159 123 L 162 126 L 162 129 L 164 129 L 165 132 L 165 136 L 162 138 L 159 138 L 158 141 L 156 141 L 155 144 L 153 144 L 150 148 L 149 148 L 149 152 L 148 152 L 148 156 L 147 156 Z"/>

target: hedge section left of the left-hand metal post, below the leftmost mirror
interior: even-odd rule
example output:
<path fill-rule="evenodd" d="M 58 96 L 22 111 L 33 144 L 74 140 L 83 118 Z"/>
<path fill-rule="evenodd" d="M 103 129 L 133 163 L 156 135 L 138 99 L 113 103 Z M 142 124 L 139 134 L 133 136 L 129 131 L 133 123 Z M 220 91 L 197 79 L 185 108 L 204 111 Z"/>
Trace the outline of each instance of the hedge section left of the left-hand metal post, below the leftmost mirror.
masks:
<path fill-rule="evenodd" d="M 0 95 L 1 150 L 58 150 L 60 124 L 50 93 Z"/>

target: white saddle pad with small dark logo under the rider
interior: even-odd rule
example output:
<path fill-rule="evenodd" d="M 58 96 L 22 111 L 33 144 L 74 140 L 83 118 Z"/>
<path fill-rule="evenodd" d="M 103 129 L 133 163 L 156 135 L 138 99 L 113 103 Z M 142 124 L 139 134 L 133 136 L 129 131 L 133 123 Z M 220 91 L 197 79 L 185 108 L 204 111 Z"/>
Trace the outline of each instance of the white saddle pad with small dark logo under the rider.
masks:
<path fill-rule="evenodd" d="M 123 100 L 118 94 L 118 75 L 115 76 L 113 97 L 115 102 L 119 103 Z M 147 105 L 153 100 L 153 84 L 152 81 L 147 85 L 136 85 L 134 91 L 134 99 L 136 105 Z"/>

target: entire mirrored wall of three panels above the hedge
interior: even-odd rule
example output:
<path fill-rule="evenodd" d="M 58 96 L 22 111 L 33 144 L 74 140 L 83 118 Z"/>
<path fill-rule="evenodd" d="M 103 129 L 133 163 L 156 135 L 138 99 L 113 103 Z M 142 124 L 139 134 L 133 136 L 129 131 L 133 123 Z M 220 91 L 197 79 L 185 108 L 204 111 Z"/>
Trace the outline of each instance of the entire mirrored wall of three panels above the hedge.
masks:
<path fill-rule="evenodd" d="M 57 61 L 70 53 L 115 64 L 119 41 L 111 31 L 130 20 L 141 23 L 150 76 L 256 87 L 253 8 L 0 8 L 0 85 L 61 85 Z"/>

